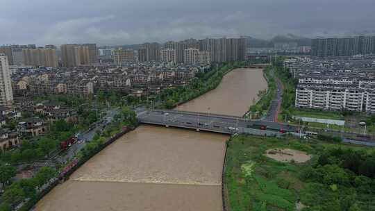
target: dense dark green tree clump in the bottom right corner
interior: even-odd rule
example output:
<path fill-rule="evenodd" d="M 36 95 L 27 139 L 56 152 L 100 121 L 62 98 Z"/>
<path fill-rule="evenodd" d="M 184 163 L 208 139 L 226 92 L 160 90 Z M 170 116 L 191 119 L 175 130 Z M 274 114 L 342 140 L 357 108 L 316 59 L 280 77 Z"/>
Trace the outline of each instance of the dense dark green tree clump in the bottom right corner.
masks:
<path fill-rule="evenodd" d="M 375 210 L 375 153 L 325 149 L 315 164 L 303 169 L 307 184 L 301 201 L 306 210 Z"/>

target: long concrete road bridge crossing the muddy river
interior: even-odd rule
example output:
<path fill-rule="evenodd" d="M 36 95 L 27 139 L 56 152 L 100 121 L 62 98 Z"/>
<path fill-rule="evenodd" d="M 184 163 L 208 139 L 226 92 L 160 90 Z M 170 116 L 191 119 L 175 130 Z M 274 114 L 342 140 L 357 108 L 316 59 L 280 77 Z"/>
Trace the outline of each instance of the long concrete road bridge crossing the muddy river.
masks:
<path fill-rule="evenodd" d="M 244 131 L 243 128 L 269 130 L 273 133 L 294 132 L 296 128 L 272 121 L 251 121 L 242 117 L 217 115 L 202 112 L 177 110 L 144 110 L 138 112 L 142 124 L 154 124 L 166 127 L 190 128 L 215 133 L 233 134 Z"/>

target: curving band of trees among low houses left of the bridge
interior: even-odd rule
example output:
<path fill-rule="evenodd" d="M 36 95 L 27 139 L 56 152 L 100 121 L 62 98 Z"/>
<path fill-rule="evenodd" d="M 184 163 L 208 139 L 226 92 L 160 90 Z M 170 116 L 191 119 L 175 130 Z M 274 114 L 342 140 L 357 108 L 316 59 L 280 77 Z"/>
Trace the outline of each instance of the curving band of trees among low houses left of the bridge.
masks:
<path fill-rule="evenodd" d="M 97 105 L 93 99 L 83 99 L 78 96 L 67 96 L 63 94 L 43 96 L 36 98 L 35 101 L 49 100 L 62 103 L 69 108 L 77 110 L 78 122 L 76 124 L 65 120 L 58 120 L 50 123 L 49 131 L 36 138 L 24 137 L 18 149 L 12 151 L 0 152 L 0 163 L 8 162 L 17 164 L 19 162 L 28 162 L 45 158 L 49 153 L 55 151 L 63 140 L 67 140 L 75 133 L 85 130 L 99 119 L 101 112 L 100 105 Z M 99 100 L 98 100 L 99 101 Z M 116 101 L 119 101 L 116 99 Z"/>

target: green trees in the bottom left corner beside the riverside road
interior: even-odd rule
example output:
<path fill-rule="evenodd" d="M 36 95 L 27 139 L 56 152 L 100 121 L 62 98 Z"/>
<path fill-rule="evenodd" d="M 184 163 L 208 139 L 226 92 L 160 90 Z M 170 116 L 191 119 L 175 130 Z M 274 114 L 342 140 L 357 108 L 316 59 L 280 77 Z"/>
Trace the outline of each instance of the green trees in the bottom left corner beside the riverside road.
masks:
<path fill-rule="evenodd" d="M 14 170 L 14 169 L 12 169 Z M 15 171 L 11 172 L 15 174 Z M 57 171 L 50 167 L 42 167 L 33 178 L 21 179 L 5 188 L 1 196 L 0 211 L 10 210 L 10 205 L 17 204 L 24 199 L 35 199 L 38 197 L 38 188 L 49 182 L 56 176 Z"/>

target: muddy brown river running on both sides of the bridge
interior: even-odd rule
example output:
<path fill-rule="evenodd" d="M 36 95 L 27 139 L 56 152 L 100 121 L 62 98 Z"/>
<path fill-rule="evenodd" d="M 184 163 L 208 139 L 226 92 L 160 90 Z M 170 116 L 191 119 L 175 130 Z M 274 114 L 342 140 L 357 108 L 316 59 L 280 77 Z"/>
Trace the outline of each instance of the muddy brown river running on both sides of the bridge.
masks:
<path fill-rule="evenodd" d="M 236 69 L 217 89 L 178 110 L 243 115 L 259 90 L 260 69 Z M 222 210 L 227 135 L 140 126 L 54 188 L 36 210 Z"/>

